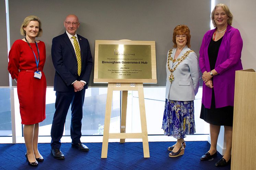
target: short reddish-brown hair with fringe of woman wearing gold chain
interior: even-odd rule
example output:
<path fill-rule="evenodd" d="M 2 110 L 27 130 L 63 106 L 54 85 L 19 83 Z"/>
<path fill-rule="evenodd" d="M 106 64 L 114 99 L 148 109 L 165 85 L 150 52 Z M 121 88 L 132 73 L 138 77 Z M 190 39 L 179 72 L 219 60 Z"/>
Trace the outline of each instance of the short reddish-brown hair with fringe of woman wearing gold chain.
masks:
<path fill-rule="evenodd" d="M 186 45 L 188 46 L 188 48 L 190 47 L 190 30 L 188 28 L 188 26 L 186 25 L 177 25 L 174 30 L 173 30 L 173 47 L 176 48 L 177 47 L 177 43 L 176 43 L 176 35 L 186 35 L 187 36 L 187 43 Z"/>

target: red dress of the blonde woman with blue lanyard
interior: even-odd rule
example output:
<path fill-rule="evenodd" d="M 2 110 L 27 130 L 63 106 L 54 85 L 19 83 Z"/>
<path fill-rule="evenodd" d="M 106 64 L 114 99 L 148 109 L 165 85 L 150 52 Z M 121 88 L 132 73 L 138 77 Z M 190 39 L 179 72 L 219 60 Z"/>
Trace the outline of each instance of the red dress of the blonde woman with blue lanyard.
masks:
<path fill-rule="evenodd" d="M 38 54 L 35 43 L 30 43 L 36 58 Z M 12 78 L 18 79 L 17 90 L 20 102 L 21 123 L 33 125 L 45 119 L 46 78 L 43 68 L 46 60 L 45 43 L 37 43 L 39 49 L 38 70 L 42 71 L 41 79 L 34 77 L 36 68 L 35 56 L 26 41 L 16 40 L 9 52 L 8 70 Z"/>

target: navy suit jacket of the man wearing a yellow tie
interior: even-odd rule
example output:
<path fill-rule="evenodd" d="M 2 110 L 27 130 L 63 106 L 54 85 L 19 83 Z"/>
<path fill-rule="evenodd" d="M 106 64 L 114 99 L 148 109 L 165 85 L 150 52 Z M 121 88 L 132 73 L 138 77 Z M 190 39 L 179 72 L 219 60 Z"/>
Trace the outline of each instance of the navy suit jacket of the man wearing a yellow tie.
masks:
<path fill-rule="evenodd" d="M 81 50 L 82 69 L 78 76 L 77 57 L 72 43 L 66 34 L 53 38 L 51 46 L 51 57 L 55 67 L 54 90 L 58 92 L 73 92 L 72 83 L 75 80 L 83 80 L 86 82 L 84 88 L 88 88 L 88 83 L 92 71 L 92 54 L 89 42 L 86 38 L 78 35 L 78 41 Z"/>

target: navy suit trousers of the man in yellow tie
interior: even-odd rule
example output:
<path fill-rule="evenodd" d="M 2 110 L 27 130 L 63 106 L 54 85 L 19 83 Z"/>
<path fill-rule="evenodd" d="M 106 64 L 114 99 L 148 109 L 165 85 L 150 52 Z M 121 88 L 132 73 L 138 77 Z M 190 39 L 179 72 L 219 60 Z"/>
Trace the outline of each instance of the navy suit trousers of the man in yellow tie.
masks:
<path fill-rule="evenodd" d="M 85 89 L 78 92 L 57 92 L 55 102 L 55 113 L 51 126 L 51 148 L 59 149 L 61 146 L 60 139 L 62 138 L 64 125 L 71 104 L 71 125 L 70 135 L 72 143 L 81 142 L 81 128 L 83 118 L 83 102 Z"/>

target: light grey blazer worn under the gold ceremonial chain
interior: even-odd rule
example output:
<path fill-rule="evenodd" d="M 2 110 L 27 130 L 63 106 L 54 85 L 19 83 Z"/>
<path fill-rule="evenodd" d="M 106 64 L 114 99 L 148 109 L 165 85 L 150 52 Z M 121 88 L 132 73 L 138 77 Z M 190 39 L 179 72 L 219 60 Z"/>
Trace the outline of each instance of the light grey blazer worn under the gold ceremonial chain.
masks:
<path fill-rule="evenodd" d="M 187 45 L 183 48 L 177 58 L 180 58 L 184 53 L 190 50 Z M 169 52 L 169 51 L 168 51 Z M 174 58 L 176 48 L 173 49 L 171 56 Z M 168 61 L 168 53 L 167 53 Z M 174 68 L 178 62 L 170 61 L 170 68 Z M 200 70 L 198 59 L 195 52 L 190 52 L 188 56 L 181 62 L 175 71 L 173 71 L 174 80 L 169 81 L 171 74 L 166 62 L 166 91 L 165 98 L 174 101 L 192 101 L 195 100 L 195 95 L 199 88 Z"/>

